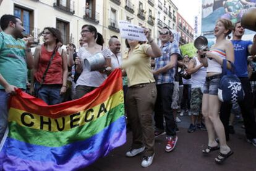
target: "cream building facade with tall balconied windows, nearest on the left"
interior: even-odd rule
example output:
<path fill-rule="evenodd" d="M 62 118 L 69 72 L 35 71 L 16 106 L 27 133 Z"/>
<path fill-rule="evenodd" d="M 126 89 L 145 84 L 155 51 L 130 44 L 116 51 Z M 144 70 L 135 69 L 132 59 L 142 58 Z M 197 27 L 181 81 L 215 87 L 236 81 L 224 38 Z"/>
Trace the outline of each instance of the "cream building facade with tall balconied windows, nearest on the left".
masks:
<path fill-rule="evenodd" d="M 55 27 L 62 33 L 64 44 L 79 44 L 82 25 L 94 25 L 103 32 L 103 4 L 96 0 L 9 0 L 2 1 L 0 16 L 19 17 L 25 35 L 32 35 L 35 43 L 43 43 L 38 36 L 43 28 Z"/>

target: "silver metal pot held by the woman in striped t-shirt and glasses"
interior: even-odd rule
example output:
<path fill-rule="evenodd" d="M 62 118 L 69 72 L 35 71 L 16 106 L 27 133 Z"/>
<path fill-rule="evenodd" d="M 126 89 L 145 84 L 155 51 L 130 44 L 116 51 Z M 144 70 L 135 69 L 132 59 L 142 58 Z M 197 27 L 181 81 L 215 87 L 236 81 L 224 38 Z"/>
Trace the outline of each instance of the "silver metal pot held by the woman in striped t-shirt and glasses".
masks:
<path fill-rule="evenodd" d="M 96 54 L 93 54 L 93 56 L 85 58 L 84 64 L 85 68 L 89 71 L 101 71 L 106 67 L 106 60 L 101 52 L 97 52 Z"/>

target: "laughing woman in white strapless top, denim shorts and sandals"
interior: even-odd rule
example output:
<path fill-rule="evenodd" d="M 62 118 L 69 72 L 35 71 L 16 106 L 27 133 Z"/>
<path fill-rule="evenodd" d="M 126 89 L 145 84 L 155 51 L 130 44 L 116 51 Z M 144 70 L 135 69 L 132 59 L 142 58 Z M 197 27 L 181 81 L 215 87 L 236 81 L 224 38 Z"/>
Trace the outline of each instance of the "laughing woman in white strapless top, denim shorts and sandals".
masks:
<path fill-rule="evenodd" d="M 221 102 L 218 99 L 218 85 L 221 79 L 223 59 L 229 61 L 227 62 L 228 69 L 231 69 L 230 62 L 234 62 L 233 44 L 226 40 L 226 36 L 232 30 L 233 24 L 230 20 L 217 20 L 214 29 L 216 43 L 208 52 L 199 51 L 203 66 L 207 67 L 207 77 L 203 86 L 202 114 L 205 117 L 205 126 L 207 127 L 208 146 L 202 152 L 209 154 L 211 151 L 220 149 L 220 154 L 215 158 L 217 164 L 221 164 L 233 154 L 233 151 L 226 144 L 224 127 L 219 115 Z M 215 133 L 220 141 L 220 146 L 216 142 Z"/>

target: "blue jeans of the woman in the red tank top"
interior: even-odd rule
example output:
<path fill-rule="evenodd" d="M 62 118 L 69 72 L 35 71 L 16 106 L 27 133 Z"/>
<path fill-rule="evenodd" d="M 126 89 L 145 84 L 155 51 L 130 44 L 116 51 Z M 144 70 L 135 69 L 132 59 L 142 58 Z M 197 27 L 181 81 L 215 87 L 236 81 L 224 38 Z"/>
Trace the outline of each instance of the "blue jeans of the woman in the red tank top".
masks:
<path fill-rule="evenodd" d="M 63 96 L 59 94 L 61 85 L 42 85 L 39 88 L 39 83 L 35 83 L 35 91 L 38 91 L 38 98 L 45 101 L 48 105 L 59 104 L 63 101 Z"/>

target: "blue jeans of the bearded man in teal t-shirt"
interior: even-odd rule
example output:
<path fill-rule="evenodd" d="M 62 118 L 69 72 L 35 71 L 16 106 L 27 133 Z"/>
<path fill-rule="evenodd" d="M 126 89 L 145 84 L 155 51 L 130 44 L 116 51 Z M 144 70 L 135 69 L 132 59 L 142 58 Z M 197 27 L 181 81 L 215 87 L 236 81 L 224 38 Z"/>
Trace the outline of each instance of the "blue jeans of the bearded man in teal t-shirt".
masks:
<path fill-rule="evenodd" d="M 9 94 L 4 90 L 0 90 L 0 142 L 2 141 L 8 125 L 8 100 Z"/>

